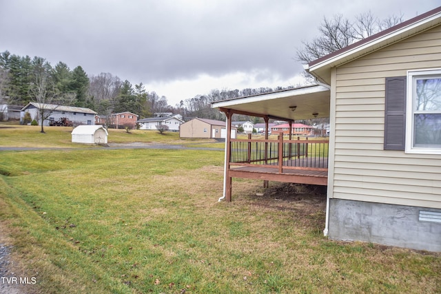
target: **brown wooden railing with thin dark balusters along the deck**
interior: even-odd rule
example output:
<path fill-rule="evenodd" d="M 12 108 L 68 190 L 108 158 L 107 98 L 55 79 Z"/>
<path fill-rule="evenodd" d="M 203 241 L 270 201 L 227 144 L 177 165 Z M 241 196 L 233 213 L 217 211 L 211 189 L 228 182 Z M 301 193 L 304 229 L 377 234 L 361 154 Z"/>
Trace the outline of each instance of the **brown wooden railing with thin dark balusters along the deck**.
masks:
<path fill-rule="evenodd" d="M 326 170 L 329 140 L 231 139 L 229 165 Z"/>

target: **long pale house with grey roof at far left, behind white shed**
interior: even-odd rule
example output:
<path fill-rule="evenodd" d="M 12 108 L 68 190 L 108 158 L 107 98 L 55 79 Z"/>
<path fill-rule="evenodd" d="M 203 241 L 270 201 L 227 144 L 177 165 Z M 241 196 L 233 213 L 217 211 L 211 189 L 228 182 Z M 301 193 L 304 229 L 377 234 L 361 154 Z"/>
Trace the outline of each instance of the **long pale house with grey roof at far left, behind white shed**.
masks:
<path fill-rule="evenodd" d="M 41 125 L 39 109 L 44 109 L 45 112 L 50 113 L 48 119 L 44 120 L 43 125 L 49 125 L 50 120 L 57 121 L 60 118 L 68 118 L 68 120 L 71 120 L 74 125 L 94 125 L 94 116 L 96 112 L 92 109 L 36 102 L 30 102 L 21 109 L 20 122 L 23 123 L 25 113 L 29 112 L 32 120 L 37 120 L 39 125 Z"/>

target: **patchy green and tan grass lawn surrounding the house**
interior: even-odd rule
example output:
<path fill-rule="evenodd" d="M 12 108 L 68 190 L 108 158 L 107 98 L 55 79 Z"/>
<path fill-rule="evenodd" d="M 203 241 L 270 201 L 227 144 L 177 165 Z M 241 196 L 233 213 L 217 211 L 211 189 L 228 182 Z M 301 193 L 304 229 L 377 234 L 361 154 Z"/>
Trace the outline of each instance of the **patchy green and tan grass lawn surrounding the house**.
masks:
<path fill-rule="evenodd" d="M 235 180 L 217 202 L 223 151 L 72 149 L 68 129 L 10 130 L 1 146 L 70 148 L 0 151 L 0 230 L 32 293 L 441 293 L 440 254 L 324 238 L 318 195 Z M 212 144 L 152 133 L 109 140 Z"/>

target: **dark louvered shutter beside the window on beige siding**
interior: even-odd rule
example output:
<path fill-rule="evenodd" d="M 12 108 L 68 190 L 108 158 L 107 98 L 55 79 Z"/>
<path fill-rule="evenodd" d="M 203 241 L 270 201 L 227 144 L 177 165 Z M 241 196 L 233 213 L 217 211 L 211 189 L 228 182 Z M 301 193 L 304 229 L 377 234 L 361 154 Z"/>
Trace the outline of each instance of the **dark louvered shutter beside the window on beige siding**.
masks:
<path fill-rule="evenodd" d="M 404 150 L 406 138 L 407 77 L 386 78 L 384 150 Z"/>

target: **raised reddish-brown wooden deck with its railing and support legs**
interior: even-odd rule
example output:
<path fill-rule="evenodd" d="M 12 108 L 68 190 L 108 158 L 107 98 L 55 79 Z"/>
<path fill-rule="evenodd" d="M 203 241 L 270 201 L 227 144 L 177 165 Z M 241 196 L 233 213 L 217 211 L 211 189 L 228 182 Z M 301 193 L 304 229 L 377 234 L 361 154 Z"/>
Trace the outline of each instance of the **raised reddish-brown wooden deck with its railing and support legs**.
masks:
<path fill-rule="evenodd" d="M 232 199 L 232 178 L 328 184 L 327 149 L 329 140 L 230 139 L 227 149 L 225 197 Z"/>

